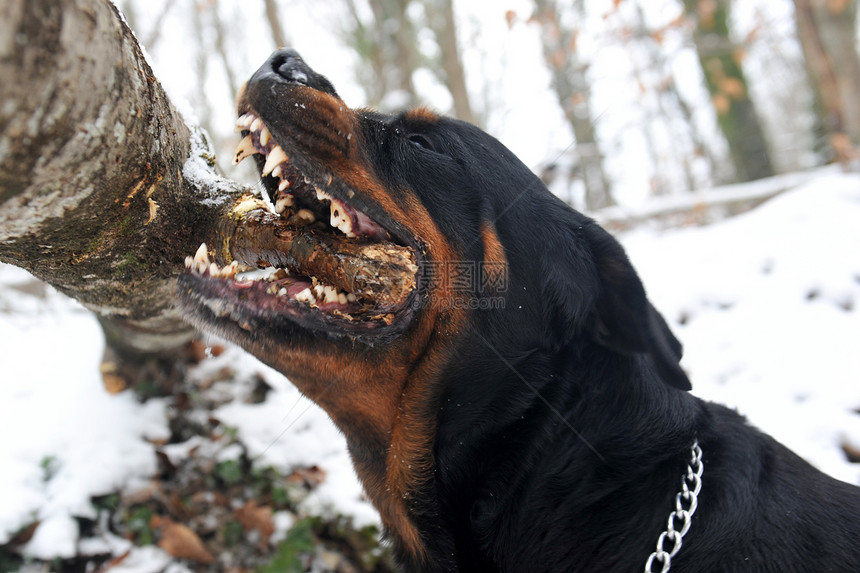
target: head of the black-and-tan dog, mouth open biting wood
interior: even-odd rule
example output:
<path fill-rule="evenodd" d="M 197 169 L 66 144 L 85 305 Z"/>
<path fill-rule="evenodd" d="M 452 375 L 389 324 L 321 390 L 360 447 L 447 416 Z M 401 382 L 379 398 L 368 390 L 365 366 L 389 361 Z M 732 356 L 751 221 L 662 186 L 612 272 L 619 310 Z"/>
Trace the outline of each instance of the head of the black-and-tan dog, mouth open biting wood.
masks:
<path fill-rule="evenodd" d="M 350 109 L 289 50 L 238 108 L 237 159 L 255 159 L 271 205 L 237 206 L 214 252 L 284 270 L 236 277 L 201 253 L 180 278 L 182 307 L 332 415 L 413 553 L 422 542 L 398 504 L 428 479 L 436 400 L 475 336 L 502 352 L 588 337 L 689 388 L 680 344 L 620 245 L 483 131 L 423 109 Z"/>

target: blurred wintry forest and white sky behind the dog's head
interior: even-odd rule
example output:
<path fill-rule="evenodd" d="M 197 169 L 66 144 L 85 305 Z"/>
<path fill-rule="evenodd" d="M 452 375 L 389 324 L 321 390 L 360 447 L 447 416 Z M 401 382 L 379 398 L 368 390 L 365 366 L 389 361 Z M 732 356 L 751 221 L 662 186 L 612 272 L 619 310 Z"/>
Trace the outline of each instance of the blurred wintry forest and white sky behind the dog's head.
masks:
<path fill-rule="evenodd" d="M 289 44 L 329 74 L 317 62 L 345 54 L 363 92 L 351 103 L 426 105 L 509 145 L 515 133 L 515 151 L 512 119 L 530 105 L 558 114 L 556 125 L 535 124 L 529 137 L 546 152 L 526 161 L 590 211 L 631 193 L 679 195 L 857 158 L 857 0 L 120 4 L 158 57 L 180 57 L 164 30 L 183 31 L 195 78 L 186 97 L 221 157 L 235 143 L 222 110 L 267 50 Z M 309 27 L 320 30 L 313 41 Z M 516 103 L 514 88 L 541 103 Z"/>

